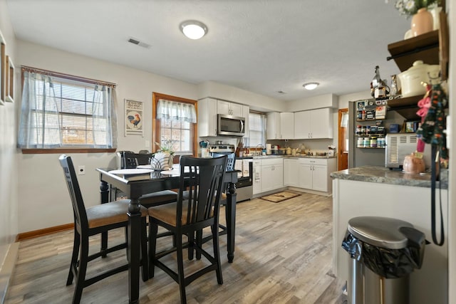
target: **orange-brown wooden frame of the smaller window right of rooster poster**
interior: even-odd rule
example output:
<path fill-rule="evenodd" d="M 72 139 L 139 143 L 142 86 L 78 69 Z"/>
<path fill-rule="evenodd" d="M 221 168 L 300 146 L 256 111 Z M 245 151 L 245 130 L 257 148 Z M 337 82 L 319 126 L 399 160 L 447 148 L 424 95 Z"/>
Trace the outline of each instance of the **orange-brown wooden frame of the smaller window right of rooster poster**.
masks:
<path fill-rule="evenodd" d="M 160 99 L 177 101 L 179 103 L 190 103 L 192 105 L 195 105 L 195 111 L 197 112 L 197 116 L 198 116 L 198 101 L 197 100 L 152 92 L 152 152 L 157 152 L 158 147 L 157 147 L 157 145 L 155 145 L 155 142 L 160 143 L 160 138 L 161 138 L 160 137 L 161 122 L 160 122 L 160 120 L 157 120 L 157 118 L 156 118 L 157 117 L 157 103 L 158 103 L 158 100 L 160 100 Z M 197 154 L 198 154 L 198 151 L 197 151 L 198 122 L 195 124 L 192 124 L 192 125 L 193 125 L 193 127 L 191 127 L 192 132 L 193 132 L 192 156 L 197 157 Z M 180 157 L 180 154 L 175 154 L 174 159 L 173 159 L 175 163 L 179 162 L 179 157 Z"/>

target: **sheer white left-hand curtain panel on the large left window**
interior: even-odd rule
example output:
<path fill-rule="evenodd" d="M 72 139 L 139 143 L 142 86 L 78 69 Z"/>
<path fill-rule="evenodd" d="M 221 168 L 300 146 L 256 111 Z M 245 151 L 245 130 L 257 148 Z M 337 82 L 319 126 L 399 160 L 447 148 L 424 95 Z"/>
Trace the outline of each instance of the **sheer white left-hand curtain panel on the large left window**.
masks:
<path fill-rule="evenodd" d="M 61 147 L 62 137 L 56 94 L 48 75 L 24 71 L 18 147 Z"/>

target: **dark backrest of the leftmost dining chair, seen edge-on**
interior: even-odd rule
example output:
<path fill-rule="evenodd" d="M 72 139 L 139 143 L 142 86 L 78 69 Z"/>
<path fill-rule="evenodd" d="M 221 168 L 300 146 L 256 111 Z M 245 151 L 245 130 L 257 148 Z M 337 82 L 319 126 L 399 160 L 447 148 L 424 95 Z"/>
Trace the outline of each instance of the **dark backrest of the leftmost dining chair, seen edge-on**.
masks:
<path fill-rule="evenodd" d="M 83 196 L 81 194 L 81 189 L 79 188 L 73 161 L 71 160 L 71 157 L 66 156 L 65 154 L 58 157 L 58 160 L 63 168 L 66 185 L 68 187 L 68 192 L 70 193 L 71 204 L 73 204 L 74 224 L 76 229 L 81 231 L 81 227 L 88 227 L 88 220 L 86 206 L 84 206 Z"/>

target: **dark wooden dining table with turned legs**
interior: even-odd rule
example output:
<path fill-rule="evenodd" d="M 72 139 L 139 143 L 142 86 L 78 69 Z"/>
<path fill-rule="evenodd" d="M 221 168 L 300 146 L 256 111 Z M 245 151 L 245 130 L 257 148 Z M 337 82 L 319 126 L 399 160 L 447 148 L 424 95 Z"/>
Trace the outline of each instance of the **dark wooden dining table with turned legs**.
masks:
<path fill-rule="evenodd" d="M 139 303 L 140 285 L 140 196 L 152 192 L 180 187 L 180 174 L 154 171 L 150 178 L 140 180 L 128 180 L 110 173 L 109 168 L 97 168 L 100 173 L 100 200 L 101 204 L 111 201 L 110 190 L 119 189 L 130 199 L 128 206 L 128 298 L 129 303 Z M 239 170 L 225 172 L 224 182 L 227 187 L 226 220 L 227 229 L 221 234 L 227 234 L 227 257 L 228 262 L 234 260 L 234 235 L 236 227 L 236 186 L 237 173 Z M 171 172 L 172 173 L 172 172 Z M 102 248 L 108 245 L 107 234 L 102 236 Z"/>

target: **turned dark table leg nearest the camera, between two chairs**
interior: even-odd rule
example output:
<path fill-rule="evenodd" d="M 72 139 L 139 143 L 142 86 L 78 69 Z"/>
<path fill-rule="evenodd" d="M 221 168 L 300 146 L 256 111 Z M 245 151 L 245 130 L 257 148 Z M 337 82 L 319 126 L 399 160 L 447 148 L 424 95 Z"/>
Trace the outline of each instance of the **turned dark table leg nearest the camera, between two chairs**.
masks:
<path fill-rule="evenodd" d="M 128 298 L 130 304 L 139 303 L 140 295 L 140 234 L 141 213 L 138 199 L 128 205 Z"/>

